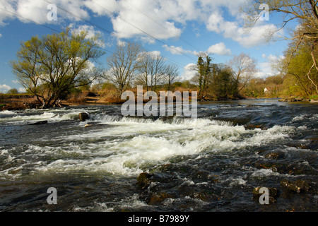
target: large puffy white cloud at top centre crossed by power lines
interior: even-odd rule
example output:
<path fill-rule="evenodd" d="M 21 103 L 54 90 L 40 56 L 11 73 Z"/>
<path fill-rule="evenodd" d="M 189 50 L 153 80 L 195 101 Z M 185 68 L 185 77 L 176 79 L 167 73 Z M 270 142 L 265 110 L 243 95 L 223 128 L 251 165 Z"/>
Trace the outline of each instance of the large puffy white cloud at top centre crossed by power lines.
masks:
<path fill-rule="evenodd" d="M 175 1 L 172 1 L 175 3 Z M 166 2 L 167 5 L 172 4 Z M 114 34 L 117 37 L 139 37 L 146 42 L 179 37 L 182 30 L 175 26 L 176 18 L 171 11 L 164 11 L 162 2 L 154 0 L 118 1 L 118 11 L 112 14 Z M 171 6 L 173 7 L 173 6 Z M 177 8 L 178 11 L 178 8 Z M 172 20 L 170 20 L 172 19 Z"/>

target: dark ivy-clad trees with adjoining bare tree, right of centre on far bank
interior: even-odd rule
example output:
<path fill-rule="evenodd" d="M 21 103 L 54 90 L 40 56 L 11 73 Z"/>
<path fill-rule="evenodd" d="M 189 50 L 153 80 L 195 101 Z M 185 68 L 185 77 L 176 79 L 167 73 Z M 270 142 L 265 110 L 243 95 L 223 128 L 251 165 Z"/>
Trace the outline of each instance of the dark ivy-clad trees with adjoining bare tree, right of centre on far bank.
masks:
<path fill-rule="evenodd" d="M 257 72 L 256 60 L 248 54 L 233 57 L 228 64 L 213 64 L 206 53 L 200 53 L 193 67 L 196 76 L 192 81 L 198 86 L 202 99 L 224 100 L 240 97 L 240 92 Z"/>

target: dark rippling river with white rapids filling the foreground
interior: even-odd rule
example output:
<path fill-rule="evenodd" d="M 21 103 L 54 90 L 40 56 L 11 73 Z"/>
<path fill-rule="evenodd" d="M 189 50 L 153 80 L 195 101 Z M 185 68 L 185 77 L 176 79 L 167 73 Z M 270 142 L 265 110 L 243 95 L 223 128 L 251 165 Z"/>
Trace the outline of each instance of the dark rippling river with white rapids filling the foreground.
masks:
<path fill-rule="evenodd" d="M 0 112 L 0 211 L 318 210 L 318 104 L 199 102 L 197 119 L 120 109 Z M 257 187 L 277 194 L 261 205 Z"/>

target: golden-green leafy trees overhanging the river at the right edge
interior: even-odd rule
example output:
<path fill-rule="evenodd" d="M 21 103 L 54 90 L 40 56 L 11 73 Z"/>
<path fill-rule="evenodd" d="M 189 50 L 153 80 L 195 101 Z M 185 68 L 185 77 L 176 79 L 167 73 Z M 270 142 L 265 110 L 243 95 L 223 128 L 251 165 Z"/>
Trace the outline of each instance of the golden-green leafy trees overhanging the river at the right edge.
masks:
<path fill-rule="evenodd" d="M 276 30 L 268 32 L 269 40 L 288 23 L 293 21 L 298 23 L 290 37 L 283 37 L 285 40 L 290 40 L 284 52 L 284 59 L 274 64 L 278 75 L 283 78 L 281 95 L 318 95 L 318 1 L 247 1 L 242 7 L 242 12 L 247 15 L 247 27 L 251 28 L 259 20 L 259 15 L 254 12 L 259 11 L 260 4 L 268 6 L 270 15 L 278 13 L 283 18 Z"/>

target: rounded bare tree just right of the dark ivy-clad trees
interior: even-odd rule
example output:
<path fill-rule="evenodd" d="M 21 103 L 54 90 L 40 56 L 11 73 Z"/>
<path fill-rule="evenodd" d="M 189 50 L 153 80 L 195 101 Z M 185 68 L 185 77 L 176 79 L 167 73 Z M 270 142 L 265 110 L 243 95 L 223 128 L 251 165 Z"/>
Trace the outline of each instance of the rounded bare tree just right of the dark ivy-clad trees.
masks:
<path fill-rule="evenodd" d="M 253 78 L 254 74 L 257 73 L 256 59 L 249 57 L 248 54 L 241 53 L 233 57 L 228 62 L 228 66 L 232 68 L 232 78 L 237 87 L 235 95 L 238 95 L 251 78 Z"/>

